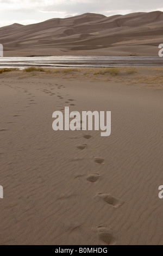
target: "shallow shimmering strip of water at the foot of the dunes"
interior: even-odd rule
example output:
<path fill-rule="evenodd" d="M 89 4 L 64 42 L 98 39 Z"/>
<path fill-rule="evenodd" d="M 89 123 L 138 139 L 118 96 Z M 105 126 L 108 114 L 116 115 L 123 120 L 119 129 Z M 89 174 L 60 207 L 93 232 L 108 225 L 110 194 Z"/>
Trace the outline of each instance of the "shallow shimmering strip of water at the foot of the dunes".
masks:
<path fill-rule="evenodd" d="M 159 56 L 43 56 L 1 57 L 0 68 L 42 67 L 109 67 L 109 66 L 162 66 Z"/>

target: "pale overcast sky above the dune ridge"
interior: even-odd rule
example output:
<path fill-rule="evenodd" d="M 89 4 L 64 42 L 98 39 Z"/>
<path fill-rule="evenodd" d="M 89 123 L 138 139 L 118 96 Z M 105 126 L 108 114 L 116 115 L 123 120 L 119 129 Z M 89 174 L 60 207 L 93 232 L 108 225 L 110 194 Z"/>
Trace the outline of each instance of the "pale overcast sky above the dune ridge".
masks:
<path fill-rule="evenodd" d="M 83 13 L 111 16 L 136 11 L 163 11 L 162 0 L 0 0 L 0 4 L 0 27 Z"/>

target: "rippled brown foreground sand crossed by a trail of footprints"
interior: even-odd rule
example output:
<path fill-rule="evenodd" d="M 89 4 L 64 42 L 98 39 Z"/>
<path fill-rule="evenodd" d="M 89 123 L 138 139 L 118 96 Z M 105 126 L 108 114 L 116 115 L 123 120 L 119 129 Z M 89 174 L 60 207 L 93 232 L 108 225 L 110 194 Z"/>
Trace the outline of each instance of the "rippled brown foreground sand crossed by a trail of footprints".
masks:
<path fill-rule="evenodd" d="M 1 245 L 163 244 L 162 70 L 137 71 L 0 75 Z M 111 135 L 54 131 L 65 106 Z"/>

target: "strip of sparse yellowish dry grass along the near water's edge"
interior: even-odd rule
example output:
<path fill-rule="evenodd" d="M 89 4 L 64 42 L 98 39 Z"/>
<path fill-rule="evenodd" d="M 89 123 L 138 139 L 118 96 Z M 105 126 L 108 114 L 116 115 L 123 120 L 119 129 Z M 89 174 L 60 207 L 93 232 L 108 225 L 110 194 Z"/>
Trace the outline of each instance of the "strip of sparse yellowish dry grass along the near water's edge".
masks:
<path fill-rule="evenodd" d="M 117 68 L 41 68 L 28 67 L 23 70 L 0 69 L 0 74 L 13 71 L 18 79 L 28 76 L 62 77 L 67 80 L 76 78 L 79 80 L 121 82 L 129 86 L 138 85 L 142 88 L 154 87 L 163 89 L 163 67 L 117 67 Z M 5 75 L 10 76 L 10 75 Z M 148 87 L 147 87 L 148 86 Z"/>

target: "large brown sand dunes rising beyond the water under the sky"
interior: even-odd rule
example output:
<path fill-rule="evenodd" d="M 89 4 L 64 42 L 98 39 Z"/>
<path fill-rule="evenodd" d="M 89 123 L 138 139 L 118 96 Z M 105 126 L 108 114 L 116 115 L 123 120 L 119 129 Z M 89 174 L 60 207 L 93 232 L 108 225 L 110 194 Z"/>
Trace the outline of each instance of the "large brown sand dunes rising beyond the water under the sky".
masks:
<path fill-rule="evenodd" d="M 0 43 L 4 56 L 158 55 L 163 13 L 86 13 L 27 26 L 14 23 L 0 28 Z"/>

